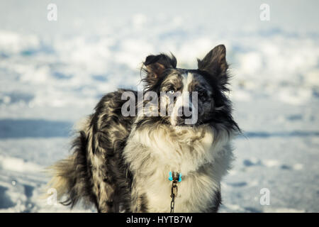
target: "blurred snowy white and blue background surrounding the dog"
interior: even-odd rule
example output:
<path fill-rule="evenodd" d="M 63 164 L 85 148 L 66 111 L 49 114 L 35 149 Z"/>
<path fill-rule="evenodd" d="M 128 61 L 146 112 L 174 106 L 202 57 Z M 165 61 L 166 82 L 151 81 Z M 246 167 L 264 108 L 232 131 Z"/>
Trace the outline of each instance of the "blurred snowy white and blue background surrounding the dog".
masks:
<path fill-rule="evenodd" d="M 147 55 L 172 52 L 178 67 L 196 68 L 221 43 L 244 136 L 220 212 L 318 212 L 318 9 L 315 0 L 0 0 L 0 212 L 70 211 L 39 194 L 44 167 L 69 153 L 73 124 L 103 94 L 140 89 Z"/>

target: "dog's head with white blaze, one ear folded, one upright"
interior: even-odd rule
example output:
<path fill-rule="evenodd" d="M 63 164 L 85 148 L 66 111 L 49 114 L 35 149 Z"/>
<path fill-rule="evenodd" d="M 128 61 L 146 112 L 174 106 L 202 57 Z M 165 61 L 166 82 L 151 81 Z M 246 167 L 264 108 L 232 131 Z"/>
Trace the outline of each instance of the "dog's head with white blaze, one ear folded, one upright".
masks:
<path fill-rule="evenodd" d="M 198 59 L 196 70 L 177 68 L 174 55 L 164 54 L 146 57 L 143 69 L 145 93 L 155 92 L 159 97 L 162 122 L 172 126 L 235 123 L 225 95 L 229 76 L 224 45 L 216 46 L 202 60 Z"/>

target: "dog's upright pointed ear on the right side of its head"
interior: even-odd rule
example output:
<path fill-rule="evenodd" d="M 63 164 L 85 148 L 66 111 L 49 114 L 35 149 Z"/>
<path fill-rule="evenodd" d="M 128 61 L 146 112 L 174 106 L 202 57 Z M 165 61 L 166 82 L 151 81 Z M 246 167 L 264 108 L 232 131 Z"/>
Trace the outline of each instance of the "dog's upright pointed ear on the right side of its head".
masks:
<path fill-rule="evenodd" d="M 218 77 L 226 76 L 228 64 L 226 62 L 226 48 L 225 45 L 218 45 L 203 58 L 197 59 L 198 70 L 208 72 L 209 74 Z"/>

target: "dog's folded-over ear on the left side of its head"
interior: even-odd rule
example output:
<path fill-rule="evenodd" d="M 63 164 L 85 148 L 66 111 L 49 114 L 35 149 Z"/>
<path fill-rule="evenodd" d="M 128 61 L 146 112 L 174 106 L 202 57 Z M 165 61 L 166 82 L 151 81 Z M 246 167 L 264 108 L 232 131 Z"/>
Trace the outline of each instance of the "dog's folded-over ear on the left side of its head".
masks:
<path fill-rule="evenodd" d="M 168 68 L 176 68 L 177 60 L 174 55 L 172 55 L 172 57 L 164 54 L 149 55 L 146 57 L 143 65 L 143 68 L 147 73 L 146 80 L 147 82 L 151 82 L 159 79 L 164 70 L 167 70 Z"/>

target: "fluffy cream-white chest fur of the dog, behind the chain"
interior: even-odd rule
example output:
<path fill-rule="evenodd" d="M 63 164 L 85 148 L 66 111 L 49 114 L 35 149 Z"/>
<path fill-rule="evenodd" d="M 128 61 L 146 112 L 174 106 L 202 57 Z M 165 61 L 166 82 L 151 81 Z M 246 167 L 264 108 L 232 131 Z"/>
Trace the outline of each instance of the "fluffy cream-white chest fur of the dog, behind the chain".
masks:
<path fill-rule="evenodd" d="M 123 153 L 135 175 L 132 196 L 145 194 L 150 212 L 169 212 L 169 171 L 177 171 L 182 180 L 174 211 L 206 211 L 233 159 L 229 141 L 226 131 L 216 135 L 210 126 L 133 128 Z"/>

